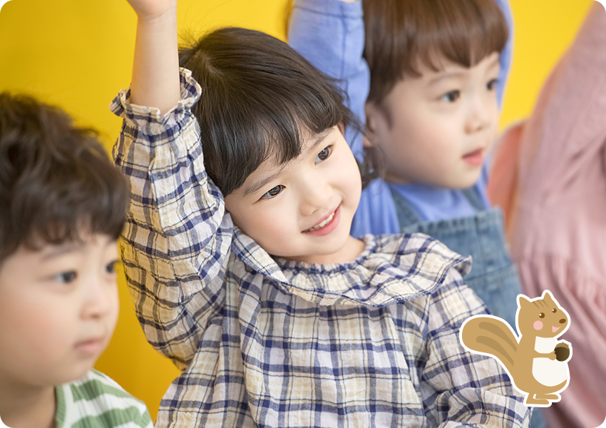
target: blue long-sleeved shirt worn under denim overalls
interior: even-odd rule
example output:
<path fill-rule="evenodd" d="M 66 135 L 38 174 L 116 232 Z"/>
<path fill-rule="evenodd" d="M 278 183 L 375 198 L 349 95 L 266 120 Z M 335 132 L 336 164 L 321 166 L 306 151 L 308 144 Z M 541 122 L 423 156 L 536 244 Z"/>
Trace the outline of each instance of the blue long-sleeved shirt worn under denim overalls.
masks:
<path fill-rule="evenodd" d="M 499 105 L 511 63 L 513 19 L 507 0 L 495 0 L 510 28 L 505 49 L 500 54 L 497 82 Z M 289 44 L 319 70 L 340 81 L 349 97 L 349 108 L 364 123 L 364 103 L 369 92 L 370 75 L 364 51 L 364 21 L 361 1 L 297 0 L 289 26 Z M 346 131 L 346 141 L 361 158 L 362 140 L 354 130 Z M 484 165 L 475 186 L 485 208 L 488 168 Z M 423 183 L 396 184 L 375 180 L 361 195 L 359 208 L 351 225 L 351 235 L 399 233 L 400 225 L 391 191 L 401 194 L 412 205 L 419 220 L 441 220 L 475 213 L 468 199 L 458 189 L 436 188 Z"/>

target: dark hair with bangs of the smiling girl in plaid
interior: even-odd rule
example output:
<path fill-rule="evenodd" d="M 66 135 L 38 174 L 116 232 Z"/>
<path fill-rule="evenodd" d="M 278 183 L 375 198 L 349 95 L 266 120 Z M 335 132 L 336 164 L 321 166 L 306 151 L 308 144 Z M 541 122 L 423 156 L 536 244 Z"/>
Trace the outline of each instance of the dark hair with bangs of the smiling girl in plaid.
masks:
<path fill-rule="evenodd" d="M 306 133 L 340 123 L 362 130 L 332 80 L 268 34 L 218 29 L 181 48 L 179 56 L 202 87 L 193 114 L 205 168 L 223 195 L 240 188 L 267 158 L 279 164 L 297 158 Z M 362 166 L 363 183 L 378 171 L 372 163 Z"/>

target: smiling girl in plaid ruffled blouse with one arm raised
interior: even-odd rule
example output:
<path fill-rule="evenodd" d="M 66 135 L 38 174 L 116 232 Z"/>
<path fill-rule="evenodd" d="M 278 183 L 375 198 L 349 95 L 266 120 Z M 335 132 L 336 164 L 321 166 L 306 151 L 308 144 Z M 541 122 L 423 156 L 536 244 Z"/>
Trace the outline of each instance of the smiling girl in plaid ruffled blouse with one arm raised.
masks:
<path fill-rule="evenodd" d="M 349 235 L 361 176 L 322 73 L 245 29 L 178 58 L 176 2 L 130 3 L 123 260 L 145 335 L 184 370 L 157 426 L 528 424 L 495 361 L 458 342 L 485 311 L 466 260 L 426 235 Z"/>

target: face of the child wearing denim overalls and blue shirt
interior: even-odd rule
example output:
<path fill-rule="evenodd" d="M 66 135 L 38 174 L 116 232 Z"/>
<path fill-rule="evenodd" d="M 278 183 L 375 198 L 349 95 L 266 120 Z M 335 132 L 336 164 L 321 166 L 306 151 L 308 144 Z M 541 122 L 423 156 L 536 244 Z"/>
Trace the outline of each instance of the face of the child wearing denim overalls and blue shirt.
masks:
<path fill-rule="evenodd" d="M 466 188 L 476 183 L 498 127 L 498 54 L 471 68 L 446 63 L 396 83 L 366 121 L 386 159 L 387 180 Z"/>

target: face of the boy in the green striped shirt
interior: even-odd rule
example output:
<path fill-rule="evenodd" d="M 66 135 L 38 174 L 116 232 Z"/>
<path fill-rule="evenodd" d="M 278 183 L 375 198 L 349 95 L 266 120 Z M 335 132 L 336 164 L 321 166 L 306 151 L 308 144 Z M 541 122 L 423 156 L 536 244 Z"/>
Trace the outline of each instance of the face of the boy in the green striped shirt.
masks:
<path fill-rule="evenodd" d="M 0 267 L 0 384 L 49 387 L 82 377 L 118 319 L 107 235 L 84 243 L 20 248 Z"/>

